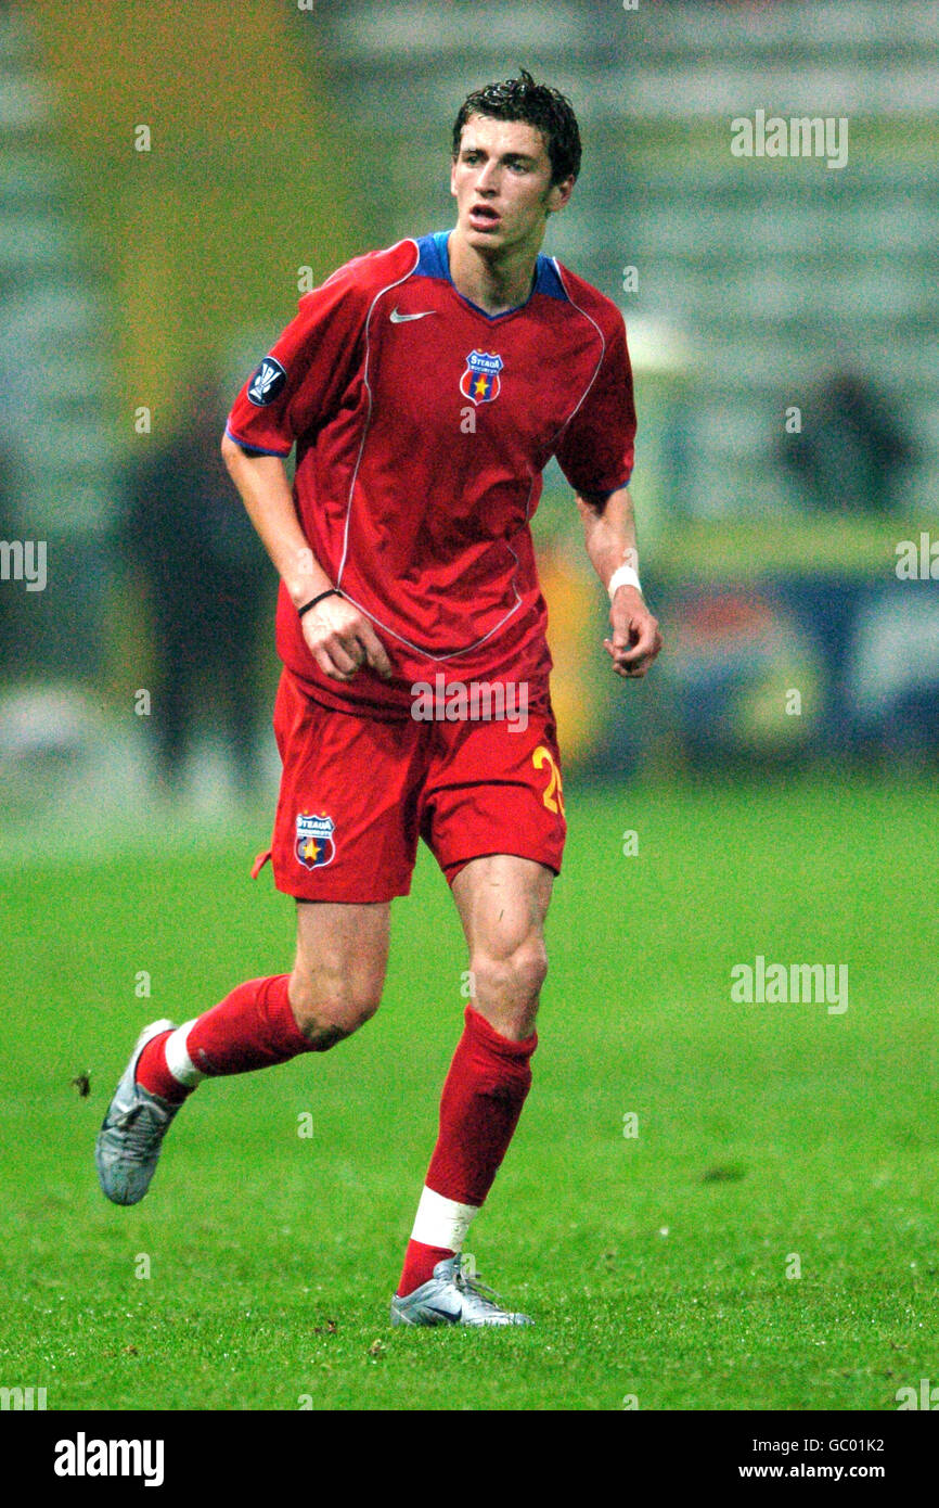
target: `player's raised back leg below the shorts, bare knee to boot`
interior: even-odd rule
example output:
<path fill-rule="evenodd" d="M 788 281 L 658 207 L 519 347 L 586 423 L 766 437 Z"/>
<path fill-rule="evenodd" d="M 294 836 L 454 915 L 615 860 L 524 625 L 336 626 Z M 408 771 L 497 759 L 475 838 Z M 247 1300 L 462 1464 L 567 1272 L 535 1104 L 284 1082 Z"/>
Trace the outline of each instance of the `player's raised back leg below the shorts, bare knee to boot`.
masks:
<path fill-rule="evenodd" d="M 381 1000 L 390 905 L 297 906 L 292 973 L 238 985 L 202 1016 L 140 1034 L 95 1146 L 104 1194 L 143 1199 L 163 1137 L 203 1078 L 247 1074 L 324 1053 L 368 1021 Z"/>

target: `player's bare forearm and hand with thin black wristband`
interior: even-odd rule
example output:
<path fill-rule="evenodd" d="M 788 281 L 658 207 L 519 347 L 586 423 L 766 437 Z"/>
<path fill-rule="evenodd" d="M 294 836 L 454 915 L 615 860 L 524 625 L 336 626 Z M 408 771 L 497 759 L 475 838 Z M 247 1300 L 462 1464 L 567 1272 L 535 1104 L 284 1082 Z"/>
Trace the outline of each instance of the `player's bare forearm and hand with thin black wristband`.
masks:
<path fill-rule="evenodd" d="M 300 528 L 280 457 L 249 455 L 228 434 L 222 440 L 222 457 L 294 606 L 303 608 L 330 591 L 333 582 Z M 326 676 L 351 680 L 366 664 L 386 680 L 390 677 L 390 661 L 371 621 L 345 597 L 324 597 L 300 621 L 310 654 Z"/>

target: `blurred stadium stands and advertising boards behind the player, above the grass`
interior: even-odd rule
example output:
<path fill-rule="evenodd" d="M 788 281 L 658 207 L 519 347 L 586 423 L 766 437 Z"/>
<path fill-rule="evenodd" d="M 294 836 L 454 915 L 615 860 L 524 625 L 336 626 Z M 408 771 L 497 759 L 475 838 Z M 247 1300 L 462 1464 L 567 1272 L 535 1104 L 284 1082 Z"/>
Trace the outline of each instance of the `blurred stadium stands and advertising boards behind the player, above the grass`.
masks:
<path fill-rule="evenodd" d="M 258 789 L 258 757 L 273 789 L 273 581 L 214 457 L 199 489 L 199 446 L 298 279 L 451 223 L 455 109 L 518 65 L 582 122 L 546 249 L 625 315 L 668 647 L 622 697 L 549 472 L 535 537 L 570 777 L 933 759 L 939 600 L 895 564 L 939 529 L 934 5 L 23 0 L 0 6 L 0 537 L 45 541 L 48 582 L 0 584 L 8 826 L 48 805 L 125 822 L 173 775 L 179 808 L 206 811 Z M 757 109 L 847 116 L 847 166 L 736 158 L 729 121 Z M 213 525 L 187 537 L 194 510 Z M 199 552 L 214 608 L 182 579 Z M 234 688 L 211 654 L 160 662 L 167 599 L 222 659 L 250 641 Z M 191 742 L 160 745 L 185 677 Z"/>

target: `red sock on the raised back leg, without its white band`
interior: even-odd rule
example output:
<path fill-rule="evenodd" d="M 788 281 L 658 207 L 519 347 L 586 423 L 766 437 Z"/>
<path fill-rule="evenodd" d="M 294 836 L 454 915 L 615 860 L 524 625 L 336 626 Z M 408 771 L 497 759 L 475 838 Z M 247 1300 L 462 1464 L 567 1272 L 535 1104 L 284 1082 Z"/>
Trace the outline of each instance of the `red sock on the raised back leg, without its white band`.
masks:
<path fill-rule="evenodd" d="M 289 974 L 250 979 L 206 1010 L 185 1039 L 193 1068 L 200 1074 L 247 1074 L 271 1063 L 286 1063 L 314 1051 L 294 1019 L 288 998 Z M 137 1065 L 137 1083 L 163 1099 L 184 1099 L 188 1090 L 166 1065 L 169 1031 L 148 1042 Z"/>

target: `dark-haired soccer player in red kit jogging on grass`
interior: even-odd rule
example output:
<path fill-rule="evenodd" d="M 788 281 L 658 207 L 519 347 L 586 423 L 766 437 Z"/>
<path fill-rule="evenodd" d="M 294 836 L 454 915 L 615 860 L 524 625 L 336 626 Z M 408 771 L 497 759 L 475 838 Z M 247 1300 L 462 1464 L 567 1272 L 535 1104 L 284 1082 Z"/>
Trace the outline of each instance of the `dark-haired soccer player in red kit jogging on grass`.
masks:
<path fill-rule="evenodd" d="M 660 648 L 627 492 L 622 318 L 540 253 L 579 167 L 558 90 L 521 71 L 470 93 L 454 125 L 455 228 L 335 271 L 235 400 L 225 460 L 280 575 L 283 775 L 255 872 L 271 857 L 295 897 L 297 955 L 197 1019 L 146 1027 L 96 1146 L 107 1197 L 136 1203 L 203 1078 L 324 1053 L 368 1021 L 422 837 L 463 921 L 472 997 L 393 1324 L 531 1323 L 461 1252 L 529 1092 L 565 838 L 529 531 L 552 455 L 610 594 L 613 671 L 641 677 Z"/>

